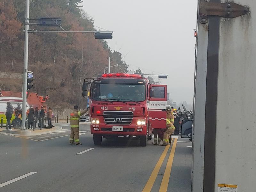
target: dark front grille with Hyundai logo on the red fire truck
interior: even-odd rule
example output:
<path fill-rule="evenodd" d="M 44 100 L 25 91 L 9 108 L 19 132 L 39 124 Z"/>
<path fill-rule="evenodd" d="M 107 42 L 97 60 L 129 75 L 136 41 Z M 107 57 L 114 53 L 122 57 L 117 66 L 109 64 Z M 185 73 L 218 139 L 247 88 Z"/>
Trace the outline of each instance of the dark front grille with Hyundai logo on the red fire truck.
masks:
<path fill-rule="evenodd" d="M 132 122 L 132 111 L 104 111 L 104 121 L 109 125 L 129 125 Z"/>

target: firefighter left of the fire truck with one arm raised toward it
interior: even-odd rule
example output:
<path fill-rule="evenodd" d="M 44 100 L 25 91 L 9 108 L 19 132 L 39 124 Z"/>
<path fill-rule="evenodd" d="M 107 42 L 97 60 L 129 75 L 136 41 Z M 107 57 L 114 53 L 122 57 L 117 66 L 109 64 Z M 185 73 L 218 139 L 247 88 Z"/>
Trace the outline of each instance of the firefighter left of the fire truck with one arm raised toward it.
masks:
<path fill-rule="evenodd" d="M 74 111 L 70 113 L 70 127 L 71 127 L 71 133 L 69 138 L 69 144 L 76 144 L 81 145 L 79 141 L 79 118 L 80 116 L 84 115 L 88 111 L 87 109 L 84 109 L 82 111 L 78 111 L 78 106 L 74 106 Z"/>

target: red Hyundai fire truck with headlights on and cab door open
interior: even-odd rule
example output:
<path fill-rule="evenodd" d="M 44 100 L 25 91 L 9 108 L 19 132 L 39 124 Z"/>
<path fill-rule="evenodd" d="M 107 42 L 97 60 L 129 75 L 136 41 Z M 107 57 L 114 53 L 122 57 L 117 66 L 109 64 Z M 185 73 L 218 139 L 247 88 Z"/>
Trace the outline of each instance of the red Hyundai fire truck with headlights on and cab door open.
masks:
<path fill-rule="evenodd" d="M 146 146 L 153 129 L 166 127 L 166 89 L 139 74 L 110 73 L 85 81 L 94 144 L 101 145 L 102 137 L 125 137 Z"/>

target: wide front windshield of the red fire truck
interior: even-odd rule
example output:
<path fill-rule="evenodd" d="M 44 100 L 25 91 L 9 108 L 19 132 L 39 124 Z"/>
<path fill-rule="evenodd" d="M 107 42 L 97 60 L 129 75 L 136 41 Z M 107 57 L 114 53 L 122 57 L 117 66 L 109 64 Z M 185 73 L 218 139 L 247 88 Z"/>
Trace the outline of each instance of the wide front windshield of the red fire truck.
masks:
<path fill-rule="evenodd" d="M 125 102 L 140 102 L 146 100 L 145 84 L 94 84 L 93 100 L 122 100 Z"/>

